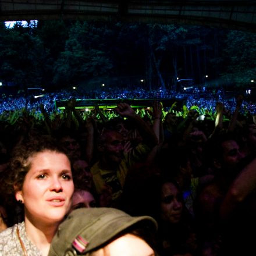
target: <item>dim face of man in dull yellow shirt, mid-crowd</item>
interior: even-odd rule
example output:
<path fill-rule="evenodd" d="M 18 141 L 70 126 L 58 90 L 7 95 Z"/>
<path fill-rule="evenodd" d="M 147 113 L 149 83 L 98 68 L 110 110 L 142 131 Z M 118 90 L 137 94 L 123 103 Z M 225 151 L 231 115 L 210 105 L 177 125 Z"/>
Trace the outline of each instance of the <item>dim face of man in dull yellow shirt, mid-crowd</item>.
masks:
<path fill-rule="evenodd" d="M 104 157 L 106 161 L 112 163 L 120 163 L 124 157 L 122 134 L 117 131 L 106 131 L 104 141 Z"/>

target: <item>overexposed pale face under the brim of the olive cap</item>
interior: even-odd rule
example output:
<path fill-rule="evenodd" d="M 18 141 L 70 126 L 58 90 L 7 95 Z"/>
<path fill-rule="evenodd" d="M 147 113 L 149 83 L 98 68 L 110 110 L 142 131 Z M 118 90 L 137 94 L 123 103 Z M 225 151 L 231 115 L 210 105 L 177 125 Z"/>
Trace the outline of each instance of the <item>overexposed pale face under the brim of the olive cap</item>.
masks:
<path fill-rule="evenodd" d="M 113 240 L 91 256 L 154 256 L 152 248 L 140 237 L 133 234 L 125 234 Z"/>

